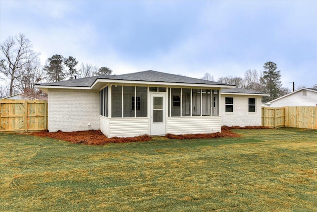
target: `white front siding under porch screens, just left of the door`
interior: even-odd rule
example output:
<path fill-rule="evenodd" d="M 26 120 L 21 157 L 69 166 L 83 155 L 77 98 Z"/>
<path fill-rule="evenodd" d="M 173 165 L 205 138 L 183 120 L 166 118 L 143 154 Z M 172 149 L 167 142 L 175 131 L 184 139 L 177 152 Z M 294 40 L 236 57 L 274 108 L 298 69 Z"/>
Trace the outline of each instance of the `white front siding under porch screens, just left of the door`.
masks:
<path fill-rule="evenodd" d="M 149 118 L 109 118 L 111 137 L 135 137 L 149 135 Z"/>

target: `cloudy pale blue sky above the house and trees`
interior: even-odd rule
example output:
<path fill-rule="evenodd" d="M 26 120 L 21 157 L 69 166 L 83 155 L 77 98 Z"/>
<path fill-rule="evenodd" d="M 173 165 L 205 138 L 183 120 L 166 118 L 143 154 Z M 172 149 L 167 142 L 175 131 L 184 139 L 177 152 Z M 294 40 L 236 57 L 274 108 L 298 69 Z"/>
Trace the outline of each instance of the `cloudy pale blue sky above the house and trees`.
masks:
<path fill-rule="evenodd" d="M 317 1 L 0 0 L 0 43 L 25 34 L 42 65 L 55 54 L 114 74 L 244 77 L 274 62 L 283 87 L 317 84 Z"/>

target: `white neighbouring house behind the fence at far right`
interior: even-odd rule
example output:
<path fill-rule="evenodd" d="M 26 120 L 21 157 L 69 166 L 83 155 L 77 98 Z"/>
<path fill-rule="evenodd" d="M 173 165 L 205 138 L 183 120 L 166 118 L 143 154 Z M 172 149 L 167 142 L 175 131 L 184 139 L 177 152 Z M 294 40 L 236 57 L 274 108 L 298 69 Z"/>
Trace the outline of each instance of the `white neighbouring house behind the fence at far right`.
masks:
<path fill-rule="evenodd" d="M 270 107 L 317 106 L 317 88 L 301 88 L 267 102 Z"/>

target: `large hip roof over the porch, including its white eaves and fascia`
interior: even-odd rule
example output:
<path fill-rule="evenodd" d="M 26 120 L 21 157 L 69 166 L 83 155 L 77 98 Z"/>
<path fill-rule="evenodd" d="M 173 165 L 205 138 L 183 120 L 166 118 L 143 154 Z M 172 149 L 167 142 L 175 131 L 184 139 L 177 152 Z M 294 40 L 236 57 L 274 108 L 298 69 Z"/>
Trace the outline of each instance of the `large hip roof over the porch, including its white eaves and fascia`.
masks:
<path fill-rule="evenodd" d="M 214 82 L 204 79 L 197 79 L 187 76 L 181 76 L 171 73 L 163 73 L 159 71 L 141 71 L 135 73 L 126 73 L 121 75 L 100 75 L 92 76 L 79 79 L 71 79 L 52 83 L 37 83 L 39 88 L 81 88 L 81 89 L 99 89 L 100 86 L 95 85 L 98 82 L 111 82 L 111 83 L 150 83 L 155 82 L 156 84 L 199 84 L 199 85 L 217 85 L 218 87 L 234 87 L 234 85 Z"/>

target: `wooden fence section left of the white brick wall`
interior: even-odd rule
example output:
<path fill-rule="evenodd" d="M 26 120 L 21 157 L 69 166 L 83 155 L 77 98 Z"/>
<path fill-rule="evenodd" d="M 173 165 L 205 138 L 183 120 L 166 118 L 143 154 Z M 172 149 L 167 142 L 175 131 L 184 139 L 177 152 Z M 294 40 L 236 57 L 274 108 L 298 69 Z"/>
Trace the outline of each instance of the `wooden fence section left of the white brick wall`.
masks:
<path fill-rule="evenodd" d="M 0 132 L 48 129 L 45 100 L 0 100 Z"/>

